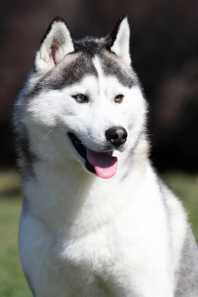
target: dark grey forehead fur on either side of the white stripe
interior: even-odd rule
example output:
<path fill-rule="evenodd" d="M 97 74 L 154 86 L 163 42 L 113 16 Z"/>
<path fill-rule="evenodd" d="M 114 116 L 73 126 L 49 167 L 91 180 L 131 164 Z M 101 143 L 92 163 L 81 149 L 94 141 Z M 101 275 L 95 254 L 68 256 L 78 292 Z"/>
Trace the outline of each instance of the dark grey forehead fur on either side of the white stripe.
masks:
<path fill-rule="evenodd" d="M 102 70 L 105 75 L 117 77 L 123 86 L 130 88 L 138 83 L 135 73 L 131 72 L 130 69 L 126 71 L 121 63 L 116 63 L 119 60 L 113 53 L 110 53 L 104 47 L 101 48 L 96 41 L 94 42 L 93 38 L 90 38 L 90 40 L 94 44 L 93 48 L 95 47 L 94 53 L 97 53 L 101 58 Z M 37 96 L 43 90 L 62 90 L 67 86 L 78 84 L 88 75 L 97 76 L 93 61 L 90 59 L 90 48 L 85 47 L 76 54 L 71 53 L 71 55 L 76 56 L 72 62 L 65 65 L 64 60 L 61 61 L 57 67 L 39 80 L 34 89 L 28 94 L 29 99 Z"/>

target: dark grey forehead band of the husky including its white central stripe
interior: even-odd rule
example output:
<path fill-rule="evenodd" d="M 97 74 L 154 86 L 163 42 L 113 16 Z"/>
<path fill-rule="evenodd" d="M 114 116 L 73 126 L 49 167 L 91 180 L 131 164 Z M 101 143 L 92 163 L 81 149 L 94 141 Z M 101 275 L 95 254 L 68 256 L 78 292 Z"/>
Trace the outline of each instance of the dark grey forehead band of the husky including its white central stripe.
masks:
<path fill-rule="evenodd" d="M 86 76 L 95 76 L 102 91 L 107 77 L 114 77 L 121 85 L 131 88 L 137 85 L 137 79 L 132 69 L 125 67 L 112 53 L 103 50 L 94 56 L 84 51 L 71 53 L 52 71 L 42 77 L 28 97 L 40 94 L 43 90 L 63 90 L 80 84 Z"/>

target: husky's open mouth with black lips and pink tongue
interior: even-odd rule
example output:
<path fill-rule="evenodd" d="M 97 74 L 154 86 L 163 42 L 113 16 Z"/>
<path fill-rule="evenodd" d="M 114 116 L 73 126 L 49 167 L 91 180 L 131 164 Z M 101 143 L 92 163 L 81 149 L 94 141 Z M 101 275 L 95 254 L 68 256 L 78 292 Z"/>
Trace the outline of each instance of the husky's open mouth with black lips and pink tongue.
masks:
<path fill-rule="evenodd" d="M 96 173 L 100 178 L 111 178 L 115 175 L 117 157 L 113 157 L 109 152 L 97 152 L 87 148 L 74 133 L 69 132 L 68 136 L 74 148 L 85 159 L 88 171 Z"/>

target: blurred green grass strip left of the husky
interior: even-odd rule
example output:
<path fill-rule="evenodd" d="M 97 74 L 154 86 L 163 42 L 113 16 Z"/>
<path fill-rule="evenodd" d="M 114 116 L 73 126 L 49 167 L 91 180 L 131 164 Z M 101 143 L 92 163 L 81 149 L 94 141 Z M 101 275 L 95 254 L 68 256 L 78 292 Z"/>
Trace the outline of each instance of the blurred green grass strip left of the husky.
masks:
<path fill-rule="evenodd" d="M 22 195 L 18 175 L 0 172 L 0 297 L 31 297 L 18 255 Z"/>

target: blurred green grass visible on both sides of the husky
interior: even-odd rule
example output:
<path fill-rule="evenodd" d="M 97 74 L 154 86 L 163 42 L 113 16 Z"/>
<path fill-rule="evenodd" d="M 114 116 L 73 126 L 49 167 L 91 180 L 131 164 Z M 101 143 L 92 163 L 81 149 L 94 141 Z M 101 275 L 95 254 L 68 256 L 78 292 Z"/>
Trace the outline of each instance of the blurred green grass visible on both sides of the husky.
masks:
<path fill-rule="evenodd" d="M 198 176 L 164 175 L 168 185 L 182 198 L 198 239 Z M 18 255 L 18 222 L 22 195 L 13 170 L 0 171 L 0 297 L 31 297 Z"/>

